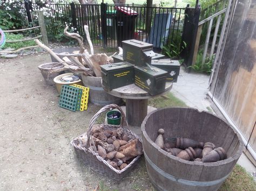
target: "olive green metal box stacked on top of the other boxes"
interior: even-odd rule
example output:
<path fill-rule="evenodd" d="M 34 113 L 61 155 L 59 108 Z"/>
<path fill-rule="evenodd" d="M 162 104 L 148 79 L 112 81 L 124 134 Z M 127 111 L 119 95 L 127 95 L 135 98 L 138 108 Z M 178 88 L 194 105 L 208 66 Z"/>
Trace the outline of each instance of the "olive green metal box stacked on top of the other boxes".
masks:
<path fill-rule="evenodd" d="M 123 45 L 123 59 L 127 62 L 133 63 L 136 66 L 146 66 L 146 63 L 151 63 L 153 52 L 153 45 L 144 43 L 139 40 L 124 40 Z"/>

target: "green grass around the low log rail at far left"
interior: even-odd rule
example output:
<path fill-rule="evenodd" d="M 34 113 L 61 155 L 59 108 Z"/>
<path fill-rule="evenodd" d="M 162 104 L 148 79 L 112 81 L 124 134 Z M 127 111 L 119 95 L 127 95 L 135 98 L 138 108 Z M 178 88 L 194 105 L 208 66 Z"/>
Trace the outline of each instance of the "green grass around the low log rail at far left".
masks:
<path fill-rule="evenodd" d="M 25 37 L 22 34 L 12 34 L 12 33 L 5 33 L 6 40 L 22 40 Z M 36 43 L 33 40 L 23 41 L 18 43 L 6 43 L 4 48 L 14 48 L 19 49 L 26 46 L 35 46 Z"/>

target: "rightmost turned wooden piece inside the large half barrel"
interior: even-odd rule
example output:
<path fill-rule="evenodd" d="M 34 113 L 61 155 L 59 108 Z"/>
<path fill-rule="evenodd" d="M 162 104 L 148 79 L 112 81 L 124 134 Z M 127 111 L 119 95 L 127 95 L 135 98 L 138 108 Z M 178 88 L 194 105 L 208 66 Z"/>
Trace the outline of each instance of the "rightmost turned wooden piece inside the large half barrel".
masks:
<path fill-rule="evenodd" d="M 217 162 L 227 158 L 227 153 L 222 147 L 215 148 L 205 155 L 202 160 L 203 162 Z"/>

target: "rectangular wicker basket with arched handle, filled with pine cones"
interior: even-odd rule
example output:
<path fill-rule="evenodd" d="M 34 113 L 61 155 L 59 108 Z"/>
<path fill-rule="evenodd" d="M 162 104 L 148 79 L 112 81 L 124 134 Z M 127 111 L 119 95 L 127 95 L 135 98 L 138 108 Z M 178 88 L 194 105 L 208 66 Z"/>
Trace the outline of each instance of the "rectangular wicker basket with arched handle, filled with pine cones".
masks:
<path fill-rule="evenodd" d="M 139 141 L 142 143 L 142 140 L 134 134 L 132 131 L 130 131 L 127 128 L 123 128 L 124 124 L 124 119 L 125 115 L 123 110 L 116 104 L 110 104 L 106 105 L 102 109 L 100 109 L 95 116 L 92 117 L 90 121 L 89 128 L 86 133 L 81 135 L 82 137 L 86 137 L 86 145 L 85 147 L 80 146 L 78 143 L 78 138 L 77 137 L 74 140 L 71 141 L 71 145 L 75 148 L 75 152 L 78 156 L 78 158 L 82 159 L 84 164 L 88 165 L 91 169 L 94 171 L 98 172 L 99 174 L 105 175 L 109 178 L 115 179 L 115 180 L 121 180 L 127 173 L 131 171 L 134 165 L 136 165 L 136 162 L 140 158 L 141 155 L 138 155 L 136 158 L 134 158 L 129 165 L 127 165 L 124 169 L 122 170 L 117 170 L 116 168 L 113 168 L 106 160 L 104 160 L 102 157 L 99 156 L 97 153 L 95 144 L 92 141 L 91 138 L 91 129 L 92 125 L 95 123 L 97 117 L 107 109 L 118 109 L 122 113 L 122 122 L 120 125 L 109 125 L 109 124 L 102 124 L 104 125 L 104 129 L 117 129 L 117 128 L 122 128 L 123 133 L 125 133 L 129 138 L 131 139 L 139 139 Z M 126 122 L 126 121 L 125 121 Z M 127 122 L 126 122 L 127 124 Z"/>

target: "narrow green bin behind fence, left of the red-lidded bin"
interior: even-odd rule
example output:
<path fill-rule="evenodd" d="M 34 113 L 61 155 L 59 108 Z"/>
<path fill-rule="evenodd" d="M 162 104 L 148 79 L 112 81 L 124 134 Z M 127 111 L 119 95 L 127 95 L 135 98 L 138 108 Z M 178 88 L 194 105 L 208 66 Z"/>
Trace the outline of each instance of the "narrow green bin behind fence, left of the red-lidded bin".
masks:
<path fill-rule="evenodd" d="M 107 28 L 107 38 L 116 39 L 116 10 L 106 11 L 106 28 Z"/>

